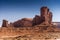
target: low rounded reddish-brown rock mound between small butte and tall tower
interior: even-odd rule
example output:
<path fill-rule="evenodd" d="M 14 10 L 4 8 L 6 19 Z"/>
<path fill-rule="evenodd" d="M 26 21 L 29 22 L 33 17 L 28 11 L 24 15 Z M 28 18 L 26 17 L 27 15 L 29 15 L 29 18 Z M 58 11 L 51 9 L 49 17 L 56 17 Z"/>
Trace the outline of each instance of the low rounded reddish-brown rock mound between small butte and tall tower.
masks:
<path fill-rule="evenodd" d="M 29 18 L 23 18 L 21 20 L 18 20 L 13 23 L 15 27 L 31 27 L 32 26 L 32 19 Z"/>

